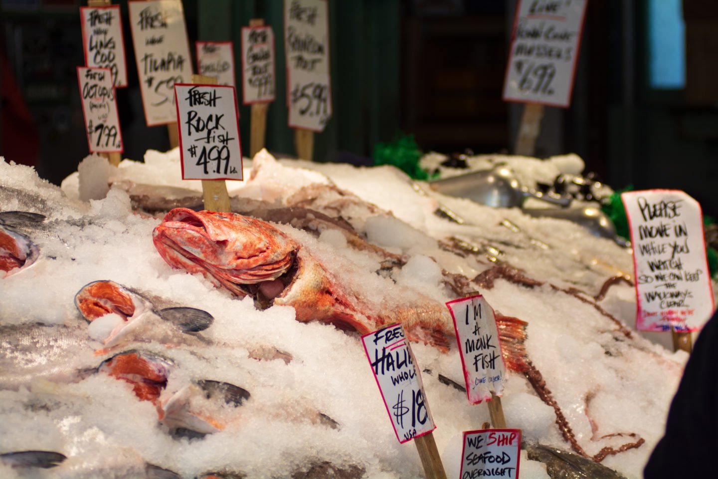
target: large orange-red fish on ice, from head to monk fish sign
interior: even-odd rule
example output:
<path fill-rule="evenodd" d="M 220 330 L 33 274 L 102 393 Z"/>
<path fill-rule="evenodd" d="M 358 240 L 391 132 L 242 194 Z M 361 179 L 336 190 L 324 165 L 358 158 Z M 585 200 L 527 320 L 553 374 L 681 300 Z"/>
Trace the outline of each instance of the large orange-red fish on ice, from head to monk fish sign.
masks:
<path fill-rule="evenodd" d="M 401 322 L 410 340 L 448 350 L 454 327 L 443 304 L 415 294 L 397 308 L 371 304 L 340 273 L 332 273 L 307 248 L 266 221 L 237 213 L 176 208 L 153 231 L 164 261 L 200 273 L 238 297 L 264 297 L 294 307 L 300 322 L 320 321 L 366 334 Z"/>

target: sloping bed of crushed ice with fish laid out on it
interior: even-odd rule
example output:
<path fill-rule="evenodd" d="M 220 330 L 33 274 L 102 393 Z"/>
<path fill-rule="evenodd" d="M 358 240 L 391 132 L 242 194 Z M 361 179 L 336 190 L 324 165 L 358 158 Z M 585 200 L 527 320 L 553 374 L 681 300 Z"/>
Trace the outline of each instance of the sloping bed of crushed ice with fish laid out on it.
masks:
<path fill-rule="evenodd" d="M 391 167 L 266 152 L 233 211 L 205 211 L 194 183 L 146 186 L 180 176 L 176 151 L 148 155 L 88 203 L 77 175 L 60 189 L 0 162 L 1 477 L 421 477 L 359 339 L 392 322 L 449 470 L 489 414 L 444 303 L 480 292 L 521 478 L 640 478 L 687 356 L 633 330 L 625 248 Z"/>

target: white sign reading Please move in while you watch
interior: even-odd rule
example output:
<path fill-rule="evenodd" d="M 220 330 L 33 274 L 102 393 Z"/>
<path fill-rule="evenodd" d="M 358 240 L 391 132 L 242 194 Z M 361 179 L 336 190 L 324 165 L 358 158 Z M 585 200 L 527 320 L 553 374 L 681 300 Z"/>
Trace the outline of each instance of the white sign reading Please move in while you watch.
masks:
<path fill-rule="evenodd" d="M 713 312 L 701 206 L 679 190 L 621 195 L 630 224 L 636 329 L 697 331 Z"/>

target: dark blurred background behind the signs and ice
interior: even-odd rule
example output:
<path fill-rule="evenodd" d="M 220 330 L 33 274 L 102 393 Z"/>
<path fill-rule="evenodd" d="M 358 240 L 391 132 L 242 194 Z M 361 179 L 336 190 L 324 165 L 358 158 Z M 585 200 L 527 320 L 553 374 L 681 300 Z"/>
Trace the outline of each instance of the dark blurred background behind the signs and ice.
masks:
<path fill-rule="evenodd" d="M 501 101 L 516 0 L 329 0 L 334 115 L 314 159 L 367 163 L 397 131 L 424 151 L 513 152 L 521 105 Z M 651 86 L 649 9 L 665 0 L 589 0 L 572 106 L 546 108 L 536 156 L 574 152 L 615 189 L 685 190 L 718 214 L 718 2 L 683 0 L 685 85 Z M 118 90 L 125 152 L 169 148 L 144 123 L 126 1 L 129 88 Z M 85 4 L 84 2 L 82 3 Z M 0 155 L 57 184 L 88 154 L 75 68 L 83 64 L 80 1 L 0 0 Z M 233 40 L 264 18 L 284 84 L 281 0 L 185 0 L 190 42 Z M 190 50 L 194 55 L 194 45 Z M 236 59 L 239 64 L 239 59 Z M 193 60 L 193 65 L 195 62 Z M 239 83 L 239 82 L 238 82 Z M 267 147 L 294 154 L 284 89 L 269 107 Z M 250 111 L 241 108 L 248 149 Z"/>

